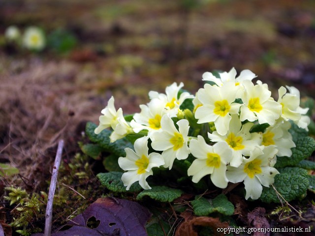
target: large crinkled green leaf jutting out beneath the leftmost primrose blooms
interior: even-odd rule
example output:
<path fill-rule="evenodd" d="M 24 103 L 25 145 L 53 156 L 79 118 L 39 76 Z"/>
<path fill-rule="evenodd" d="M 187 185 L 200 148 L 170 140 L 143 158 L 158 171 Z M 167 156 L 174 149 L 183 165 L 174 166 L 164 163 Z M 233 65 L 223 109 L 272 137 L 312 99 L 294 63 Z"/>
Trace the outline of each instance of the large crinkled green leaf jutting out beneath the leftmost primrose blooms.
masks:
<path fill-rule="evenodd" d="M 114 153 L 117 156 L 126 156 L 125 148 L 133 149 L 132 144 L 128 140 L 126 140 L 126 138 L 111 143 L 109 136 L 112 132 L 107 129 L 104 129 L 99 134 L 95 134 L 94 130 L 96 127 L 96 124 L 88 122 L 85 128 L 86 134 L 93 143 L 97 143 L 101 148 L 104 148 L 106 151 Z"/>

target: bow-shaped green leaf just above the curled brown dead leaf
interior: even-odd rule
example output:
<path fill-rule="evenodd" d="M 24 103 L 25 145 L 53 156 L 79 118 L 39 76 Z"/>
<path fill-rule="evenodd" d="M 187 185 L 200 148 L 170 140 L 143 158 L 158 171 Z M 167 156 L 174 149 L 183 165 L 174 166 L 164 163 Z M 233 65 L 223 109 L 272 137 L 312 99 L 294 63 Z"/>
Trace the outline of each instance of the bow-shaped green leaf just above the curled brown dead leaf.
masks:
<path fill-rule="evenodd" d="M 198 216 L 207 216 L 213 212 L 219 212 L 223 215 L 233 215 L 234 206 L 229 202 L 224 194 L 220 194 L 213 200 L 196 196 L 191 201 L 193 212 Z"/>

